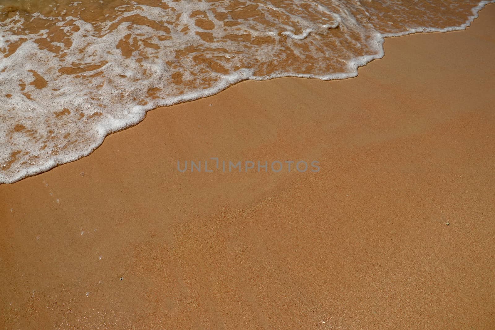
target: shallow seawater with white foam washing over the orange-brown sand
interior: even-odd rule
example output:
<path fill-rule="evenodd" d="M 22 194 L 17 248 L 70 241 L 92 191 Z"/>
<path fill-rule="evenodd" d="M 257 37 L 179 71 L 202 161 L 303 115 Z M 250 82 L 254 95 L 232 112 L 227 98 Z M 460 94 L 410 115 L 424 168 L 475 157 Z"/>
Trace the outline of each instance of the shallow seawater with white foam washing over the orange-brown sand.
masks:
<path fill-rule="evenodd" d="M 0 0 L 0 183 L 241 80 L 356 76 L 384 37 L 465 29 L 486 3 Z"/>

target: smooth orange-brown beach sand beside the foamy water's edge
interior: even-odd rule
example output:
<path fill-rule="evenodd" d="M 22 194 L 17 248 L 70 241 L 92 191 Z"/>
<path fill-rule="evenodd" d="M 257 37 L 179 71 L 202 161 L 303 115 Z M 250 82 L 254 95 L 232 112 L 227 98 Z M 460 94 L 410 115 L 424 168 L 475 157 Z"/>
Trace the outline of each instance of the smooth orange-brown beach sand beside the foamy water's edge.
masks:
<path fill-rule="evenodd" d="M 0 328 L 494 329 L 494 31 L 490 5 L 357 78 L 244 82 L 1 185 Z M 177 171 L 215 156 L 321 171 Z"/>

